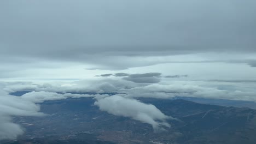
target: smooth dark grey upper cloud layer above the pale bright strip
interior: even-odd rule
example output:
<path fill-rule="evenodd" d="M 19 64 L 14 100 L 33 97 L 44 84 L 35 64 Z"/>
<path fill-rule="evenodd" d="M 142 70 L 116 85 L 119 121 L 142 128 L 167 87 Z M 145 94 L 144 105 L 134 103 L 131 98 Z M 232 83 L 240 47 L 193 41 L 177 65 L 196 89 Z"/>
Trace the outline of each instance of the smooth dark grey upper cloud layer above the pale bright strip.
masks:
<path fill-rule="evenodd" d="M 255 1 L 25 0 L 0 5 L 0 55 L 8 62 L 32 57 L 125 69 L 158 62 L 117 61 L 120 57 L 256 52 Z"/>

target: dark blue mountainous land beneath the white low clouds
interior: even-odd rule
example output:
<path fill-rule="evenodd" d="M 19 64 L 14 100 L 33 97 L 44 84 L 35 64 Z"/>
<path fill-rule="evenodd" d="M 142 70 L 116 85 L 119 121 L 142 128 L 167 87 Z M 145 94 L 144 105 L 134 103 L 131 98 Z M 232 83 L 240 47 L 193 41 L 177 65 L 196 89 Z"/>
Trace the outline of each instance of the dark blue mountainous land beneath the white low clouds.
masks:
<path fill-rule="evenodd" d="M 110 115 L 94 106 L 92 98 L 45 101 L 45 117 L 15 117 L 26 129 L 16 143 L 189 143 L 240 144 L 256 141 L 256 110 L 199 104 L 182 99 L 140 98 L 177 118 L 166 131 Z M 9 143 L 15 143 L 9 142 Z"/>

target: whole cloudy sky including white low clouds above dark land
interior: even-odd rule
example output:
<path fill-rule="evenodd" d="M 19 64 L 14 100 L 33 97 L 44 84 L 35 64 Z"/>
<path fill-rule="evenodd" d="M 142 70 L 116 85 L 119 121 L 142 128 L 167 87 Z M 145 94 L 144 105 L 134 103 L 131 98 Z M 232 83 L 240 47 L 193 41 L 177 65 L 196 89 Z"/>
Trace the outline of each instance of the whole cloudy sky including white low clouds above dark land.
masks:
<path fill-rule="evenodd" d="M 0 140 L 24 133 L 11 117 L 42 116 L 38 104 L 45 100 L 93 97 L 99 109 L 120 115 L 106 105 L 113 103 L 139 113 L 124 117 L 155 129 L 168 128 L 171 116 L 135 98 L 256 101 L 255 5 L 253 0 L 0 1 L 0 107 L 10 108 L 0 111 L 0 122 L 17 131 L 8 135 L 12 131 L 0 124 L 5 130 Z M 24 90 L 32 92 L 20 98 L 8 94 Z"/>

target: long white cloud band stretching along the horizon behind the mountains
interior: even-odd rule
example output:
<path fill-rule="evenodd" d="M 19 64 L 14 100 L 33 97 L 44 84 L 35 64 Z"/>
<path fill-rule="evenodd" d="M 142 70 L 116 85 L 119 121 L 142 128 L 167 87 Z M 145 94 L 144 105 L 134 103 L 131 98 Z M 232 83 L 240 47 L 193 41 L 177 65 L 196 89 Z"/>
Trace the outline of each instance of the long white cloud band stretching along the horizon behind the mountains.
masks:
<path fill-rule="evenodd" d="M 132 80 L 140 79 L 142 75 L 159 76 L 159 74 L 133 75 Z M 144 77 L 143 77 L 144 76 Z M 129 77 L 129 76 L 126 76 Z M 46 83 L 9 83 L 4 89 L 7 92 L 22 91 L 33 86 L 33 91 L 55 92 L 55 93 L 125 93 L 126 97 L 147 98 L 174 98 L 174 97 L 200 97 L 213 99 L 248 100 L 256 101 L 255 80 L 169 80 L 158 83 L 141 83 L 124 80 L 125 77 L 112 77 L 112 79 L 82 80 L 74 82 L 51 82 Z M 149 78 L 151 80 L 151 77 Z M 153 78 L 154 79 L 154 78 Z M 159 79 L 157 77 L 157 79 Z M 26 86 L 28 85 L 28 86 Z M 19 88 L 20 86 L 20 88 Z M 34 87 L 36 86 L 36 87 Z M 63 95 L 61 95 L 63 97 Z"/>

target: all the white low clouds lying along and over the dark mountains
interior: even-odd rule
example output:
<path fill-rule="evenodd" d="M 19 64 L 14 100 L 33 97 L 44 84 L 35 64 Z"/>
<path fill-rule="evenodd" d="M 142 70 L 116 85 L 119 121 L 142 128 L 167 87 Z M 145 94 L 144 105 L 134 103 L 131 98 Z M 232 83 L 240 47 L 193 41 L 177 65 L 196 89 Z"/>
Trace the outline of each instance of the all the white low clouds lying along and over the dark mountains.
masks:
<path fill-rule="evenodd" d="M 102 111 L 151 124 L 156 131 L 170 127 L 166 121 L 171 117 L 161 113 L 154 105 L 143 104 L 133 98 L 197 97 L 256 102 L 256 83 L 253 80 L 169 79 L 167 81 L 166 79 L 162 82 L 149 82 L 149 80 L 158 81 L 160 77 L 161 73 L 119 73 L 96 80 L 50 83 L 5 82 L 2 83 L 3 85 L 0 83 L 0 140 L 15 139 L 23 133 L 22 128 L 11 121 L 12 116 L 43 116 L 43 113 L 39 112 L 38 104 L 45 100 L 95 97 L 95 105 Z M 17 91 L 32 92 L 21 97 L 8 95 Z"/>

